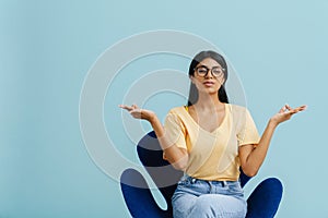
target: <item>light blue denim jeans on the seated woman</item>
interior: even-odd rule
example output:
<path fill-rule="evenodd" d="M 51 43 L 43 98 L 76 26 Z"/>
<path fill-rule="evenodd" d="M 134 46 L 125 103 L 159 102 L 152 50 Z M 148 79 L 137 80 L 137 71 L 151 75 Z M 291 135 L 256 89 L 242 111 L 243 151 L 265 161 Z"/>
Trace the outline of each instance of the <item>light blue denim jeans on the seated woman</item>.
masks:
<path fill-rule="evenodd" d="M 206 181 L 184 175 L 172 196 L 174 218 L 245 218 L 247 203 L 238 181 Z"/>

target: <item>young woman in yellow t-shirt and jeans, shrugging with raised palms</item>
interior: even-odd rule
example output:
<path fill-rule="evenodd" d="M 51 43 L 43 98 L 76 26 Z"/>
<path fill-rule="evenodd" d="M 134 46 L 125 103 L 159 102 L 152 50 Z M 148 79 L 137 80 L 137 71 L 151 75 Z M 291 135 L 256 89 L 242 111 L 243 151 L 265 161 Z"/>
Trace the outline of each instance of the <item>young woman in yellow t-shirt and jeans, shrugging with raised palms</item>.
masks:
<path fill-rule="evenodd" d="M 259 137 L 249 111 L 229 104 L 224 84 L 227 65 L 214 51 L 201 51 L 189 66 L 188 106 L 169 110 L 164 126 L 153 111 L 120 105 L 133 118 L 149 121 L 163 158 L 183 170 L 172 197 L 175 218 L 245 217 L 246 201 L 238 182 L 239 167 L 254 177 L 268 152 L 279 123 L 306 107 L 285 105 Z"/>

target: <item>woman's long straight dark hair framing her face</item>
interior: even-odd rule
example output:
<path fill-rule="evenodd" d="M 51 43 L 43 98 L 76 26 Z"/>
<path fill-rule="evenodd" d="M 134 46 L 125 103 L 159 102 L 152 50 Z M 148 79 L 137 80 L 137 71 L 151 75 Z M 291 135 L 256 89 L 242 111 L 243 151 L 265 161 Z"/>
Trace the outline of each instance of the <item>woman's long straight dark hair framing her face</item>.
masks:
<path fill-rule="evenodd" d="M 218 92 L 218 98 L 221 102 L 229 102 L 227 99 L 227 95 L 225 92 L 225 87 L 224 84 L 226 82 L 227 78 L 227 65 L 226 62 L 224 60 L 224 58 L 215 52 L 215 51 L 201 51 L 199 53 L 197 53 L 195 56 L 195 58 L 192 59 L 190 66 L 189 66 L 189 76 L 194 76 L 195 75 L 195 68 L 197 66 L 197 64 L 199 64 L 202 60 L 207 59 L 207 58 L 211 58 L 214 61 L 216 61 L 223 69 L 225 69 L 224 72 L 224 82 L 221 85 L 219 92 Z M 194 83 L 190 83 L 190 89 L 189 89 L 189 97 L 188 97 L 188 106 L 192 106 L 197 102 L 198 100 L 198 89 L 196 87 L 196 85 Z"/>

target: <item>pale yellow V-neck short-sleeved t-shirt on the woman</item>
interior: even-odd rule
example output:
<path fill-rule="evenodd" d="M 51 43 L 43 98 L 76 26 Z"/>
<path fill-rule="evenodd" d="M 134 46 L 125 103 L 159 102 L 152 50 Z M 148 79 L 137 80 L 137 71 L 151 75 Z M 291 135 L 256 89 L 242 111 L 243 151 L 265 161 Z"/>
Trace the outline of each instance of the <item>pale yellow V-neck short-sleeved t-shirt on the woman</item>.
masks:
<path fill-rule="evenodd" d="M 249 111 L 231 104 L 225 104 L 224 119 L 213 132 L 200 128 L 185 107 L 168 111 L 164 129 L 167 140 L 189 154 L 185 172 L 209 181 L 238 180 L 238 146 L 260 140 Z"/>

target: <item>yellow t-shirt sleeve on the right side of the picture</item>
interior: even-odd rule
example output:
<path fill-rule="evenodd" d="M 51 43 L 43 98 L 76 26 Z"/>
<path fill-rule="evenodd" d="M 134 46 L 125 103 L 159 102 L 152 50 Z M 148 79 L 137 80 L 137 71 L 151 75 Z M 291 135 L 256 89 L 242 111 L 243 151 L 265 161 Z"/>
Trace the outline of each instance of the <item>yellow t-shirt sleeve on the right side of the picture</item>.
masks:
<path fill-rule="evenodd" d="M 237 133 L 238 145 L 258 144 L 260 136 L 258 134 L 255 122 L 247 109 L 243 112 L 241 126 Z"/>

